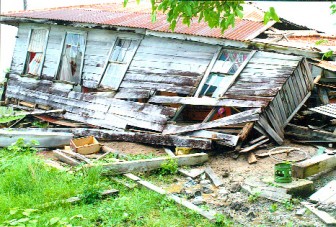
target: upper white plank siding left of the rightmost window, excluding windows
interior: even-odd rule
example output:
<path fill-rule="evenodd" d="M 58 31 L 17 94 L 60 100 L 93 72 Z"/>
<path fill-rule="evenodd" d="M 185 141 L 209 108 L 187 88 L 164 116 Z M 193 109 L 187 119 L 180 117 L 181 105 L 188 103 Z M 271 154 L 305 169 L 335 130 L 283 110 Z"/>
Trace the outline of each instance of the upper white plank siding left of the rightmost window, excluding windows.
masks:
<path fill-rule="evenodd" d="M 166 91 L 192 94 L 201 80 L 217 47 L 191 41 L 143 37 L 139 34 L 102 29 L 77 29 L 66 26 L 20 24 L 17 34 L 12 73 L 21 74 L 29 44 L 31 29 L 48 28 L 41 78 L 54 80 L 60 64 L 66 32 L 86 33 L 86 48 L 82 70 L 82 84 L 99 87 L 111 48 L 117 38 L 139 40 L 139 46 L 120 84 L 123 94 L 136 90 Z"/>

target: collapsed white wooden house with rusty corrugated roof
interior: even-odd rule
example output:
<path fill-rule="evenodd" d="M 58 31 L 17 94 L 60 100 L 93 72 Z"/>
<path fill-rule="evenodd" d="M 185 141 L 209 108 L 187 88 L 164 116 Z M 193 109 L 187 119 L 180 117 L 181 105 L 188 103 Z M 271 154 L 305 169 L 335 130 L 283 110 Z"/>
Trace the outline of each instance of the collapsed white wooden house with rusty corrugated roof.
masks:
<path fill-rule="evenodd" d="M 200 149 L 251 135 L 283 142 L 313 87 L 305 57 L 319 53 L 248 41 L 274 25 L 262 14 L 245 14 L 224 34 L 195 22 L 172 33 L 165 15 L 151 23 L 147 9 L 2 15 L 18 27 L 7 103 L 64 109 L 63 119 L 95 127 L 73 131 L 101 139 Z"/>

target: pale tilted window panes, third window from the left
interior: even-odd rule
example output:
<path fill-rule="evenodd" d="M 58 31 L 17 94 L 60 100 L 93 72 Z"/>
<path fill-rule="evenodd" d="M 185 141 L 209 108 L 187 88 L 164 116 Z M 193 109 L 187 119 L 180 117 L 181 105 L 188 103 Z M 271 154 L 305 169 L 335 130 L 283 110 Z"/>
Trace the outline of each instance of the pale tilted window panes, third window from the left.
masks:
<path fill-rule="evenodd" d="M 111 50 L 100 83 L 102 87 L 117 90 L 139 44 L 138 40 L 117 39 Z"/>

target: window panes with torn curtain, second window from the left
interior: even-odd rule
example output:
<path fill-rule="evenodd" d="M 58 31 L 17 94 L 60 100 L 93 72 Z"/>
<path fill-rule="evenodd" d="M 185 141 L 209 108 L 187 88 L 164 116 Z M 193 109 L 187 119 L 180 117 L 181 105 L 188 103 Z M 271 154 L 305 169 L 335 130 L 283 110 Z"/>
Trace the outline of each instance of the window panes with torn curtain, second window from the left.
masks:
<path fill-rule="evenodd" d="M 83 34 L 66 33 L 59 80 L 80 84 L 84 50 L 85 37 Z"/>

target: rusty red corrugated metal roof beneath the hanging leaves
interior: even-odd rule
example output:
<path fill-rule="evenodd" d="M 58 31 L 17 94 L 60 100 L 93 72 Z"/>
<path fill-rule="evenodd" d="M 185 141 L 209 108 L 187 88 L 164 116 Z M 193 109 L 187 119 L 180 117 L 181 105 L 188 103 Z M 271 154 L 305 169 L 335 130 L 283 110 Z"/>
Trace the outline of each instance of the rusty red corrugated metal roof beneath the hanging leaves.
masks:
<path fill-rule="evenodd" d="M 248 8 L 250 6 L 246 5 L 245 7 Z M 198 23 L 197 19 L 191 23 L 190 27 L 182 24 L 182 22 L 178 22 L 174 33 L 240 41 L 252 39 L 258 35 L 256 31 L 261 32 L 265 25 L 261 20 L 260 12 L 253 11 L 251 8 L 248 9 L 247 19 L 237 19 L 235 27 L 227 29 L 223 34 L 218 28 L 210 29 L 206 23 Z M 166 15 L 159 13 L 157 21 L 152 23 L 150 12 L 150 4 L 141 3 L 137 5 L 129 3 L 124 8 L 122 3 L 109 3 L 12 12 L 3 16 L 144 28 L 152 31 L 172 33 L 169 29 L 169 23 L 166 21 Z"/>

